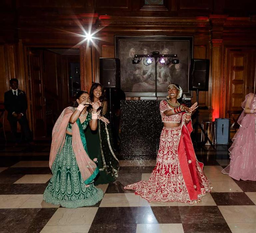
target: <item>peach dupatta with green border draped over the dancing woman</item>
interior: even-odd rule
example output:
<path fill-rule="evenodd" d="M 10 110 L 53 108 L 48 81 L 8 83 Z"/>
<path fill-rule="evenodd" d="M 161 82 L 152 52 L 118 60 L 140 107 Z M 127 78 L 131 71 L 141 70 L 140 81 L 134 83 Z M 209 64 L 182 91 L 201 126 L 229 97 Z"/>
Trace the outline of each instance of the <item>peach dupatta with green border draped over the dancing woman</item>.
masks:
<path fill-rule="evenodd" d="M 57 119 L 52 130 L 52 144 L 50 151 L 49 165 L 52 168 L 52 164 L 65 143 L 66 129 L 69 119 L 74 113 L 75 108 L 65 108 L 59 118 Z M 79 126 L 75 122 L 72 125 L 72 147 L 75 153 L 76 162 L 84 179 L 85 184 L 89 184 L 96 177 L 99 172 L 95 162 L 93 162 L 85 151 L 83 142 L 81 140 Z"/>

